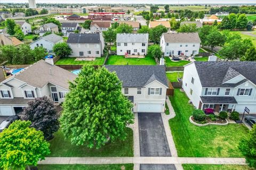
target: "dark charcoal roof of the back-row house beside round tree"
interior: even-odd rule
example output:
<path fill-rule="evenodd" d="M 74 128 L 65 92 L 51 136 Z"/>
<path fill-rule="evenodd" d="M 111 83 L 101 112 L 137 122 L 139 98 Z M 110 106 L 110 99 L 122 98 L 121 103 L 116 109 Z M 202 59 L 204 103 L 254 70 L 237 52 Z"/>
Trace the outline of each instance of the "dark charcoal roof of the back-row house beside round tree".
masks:
<path fill-rule="evenodd" d="M 99 33 L 70 33 L 67 43 L 100 43 Z"/>

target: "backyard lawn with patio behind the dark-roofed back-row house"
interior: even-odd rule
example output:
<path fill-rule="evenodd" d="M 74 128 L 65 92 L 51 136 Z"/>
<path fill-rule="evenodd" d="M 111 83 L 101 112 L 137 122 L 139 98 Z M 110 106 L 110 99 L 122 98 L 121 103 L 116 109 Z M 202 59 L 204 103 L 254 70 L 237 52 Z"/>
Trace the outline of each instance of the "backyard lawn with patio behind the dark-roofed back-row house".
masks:
<path fill-rule="evenodd" d="M 102 65 L 105 57 L 97 57 L 94 61 L 75 61 L 76 57 L 65 57 L 60 58 L 55 64 L 56 65 Z"/>

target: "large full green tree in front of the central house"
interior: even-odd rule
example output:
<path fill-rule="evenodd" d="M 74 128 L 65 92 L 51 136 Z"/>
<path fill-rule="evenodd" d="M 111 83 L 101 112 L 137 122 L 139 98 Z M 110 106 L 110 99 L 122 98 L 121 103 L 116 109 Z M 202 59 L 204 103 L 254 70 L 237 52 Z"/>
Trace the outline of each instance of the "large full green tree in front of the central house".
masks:
<path fill-rule="evenodd" d="M 126 139 L 125 128 L 133 123 L 134 115 L 116 73 L 84 66 L 69 90 L 60 123 L 71 143 L 100 148 L 108 140 Z"/>

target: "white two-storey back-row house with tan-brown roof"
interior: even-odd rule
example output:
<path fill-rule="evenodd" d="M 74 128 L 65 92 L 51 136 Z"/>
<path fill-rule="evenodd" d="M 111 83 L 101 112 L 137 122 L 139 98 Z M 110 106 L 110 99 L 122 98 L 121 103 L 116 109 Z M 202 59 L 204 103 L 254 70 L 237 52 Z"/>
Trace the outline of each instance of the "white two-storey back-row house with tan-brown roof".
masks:
<path fill-rule="evenodd" d="M 199 53 L 201 40 L 197 32 L 163 33 L 160 46 L 164 56 L 197 55 Z"/>

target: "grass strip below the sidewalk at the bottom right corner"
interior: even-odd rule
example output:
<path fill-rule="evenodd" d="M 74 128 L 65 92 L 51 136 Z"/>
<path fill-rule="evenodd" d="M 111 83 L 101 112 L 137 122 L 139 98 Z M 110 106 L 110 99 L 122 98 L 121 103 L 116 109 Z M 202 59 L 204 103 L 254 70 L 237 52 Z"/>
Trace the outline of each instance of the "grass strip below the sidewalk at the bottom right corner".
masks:
<path fill-rule="evenodd" d="M 196 165 L 182 164 L 184 170 L 253 170 L 245 165 Z"/>

